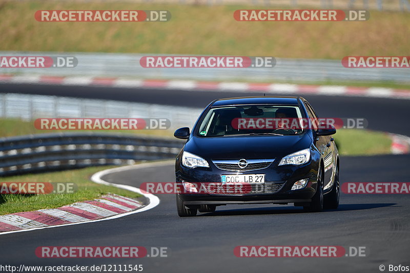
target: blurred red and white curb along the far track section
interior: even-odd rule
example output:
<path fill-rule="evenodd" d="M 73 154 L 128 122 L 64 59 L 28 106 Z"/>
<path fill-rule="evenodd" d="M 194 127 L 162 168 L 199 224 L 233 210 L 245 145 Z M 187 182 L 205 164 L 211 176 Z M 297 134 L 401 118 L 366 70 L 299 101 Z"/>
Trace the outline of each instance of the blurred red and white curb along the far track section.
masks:
<path fill-rule="evenodd" d="M 196 80 L 129 79 L 115 77 L 77 77 L 0 74 L 0 82 L 42 83 L 64 86 L 108 86 L 120 88 L 160 88 L 216 92 L 264 92 L 283 95 L 362 96 L 410 99 L 410 90 L 381 87 L 296 85 L 293 83 L 218 82 Z"/>

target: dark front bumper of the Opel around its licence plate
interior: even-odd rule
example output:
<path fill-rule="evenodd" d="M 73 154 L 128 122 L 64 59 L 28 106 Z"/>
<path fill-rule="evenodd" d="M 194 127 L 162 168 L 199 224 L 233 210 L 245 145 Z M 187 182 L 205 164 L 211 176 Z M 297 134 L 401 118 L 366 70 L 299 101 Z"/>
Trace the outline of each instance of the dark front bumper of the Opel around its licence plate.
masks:
<path fill-rule="evenodd" d="M 236 174 L 264 174 L 265 188 L 270 184 L 278 185 L 276 191 L 250 191 L 244 194 L 229 193 L 181 193 L 179 194 L 184 205 L 202 204 L 260 204 L 260 203 L 309 203 L 316 193 L 318 160 L 311 159 L 310 162 L 301 166 L 282 165 L 273 162 L 269 167 L 249 172 L 230 172 L 218 169 L 215 165 L 210 167 L 196 167 L 194 169 L 182 166 L 180 161 L 176 162 L 176 182 L 190 182 L 195 184 L 221 183 L 221 175 Z M 308 178 L 305 187 L 300 190 L 291 190 L 298 180 Z M 252 184 L 252 183 L 250 183 Z M 254 185 L 252 185 L 254 186 Z"/>

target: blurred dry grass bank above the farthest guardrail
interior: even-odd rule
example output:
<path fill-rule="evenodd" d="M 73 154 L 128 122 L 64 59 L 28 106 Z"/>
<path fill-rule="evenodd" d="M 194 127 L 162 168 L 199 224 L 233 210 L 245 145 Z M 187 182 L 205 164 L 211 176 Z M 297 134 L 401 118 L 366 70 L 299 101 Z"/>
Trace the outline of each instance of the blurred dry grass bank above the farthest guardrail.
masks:
<path fill-rule="evenodd" d="M 365 22 L 237 22 L 233 12 L 241 8 L 258 7 L 3 1 L 0 3 L 0 50 L 324 59 L 348 55 L 408 55 L 410 16 L 407 13 L 372 10 L 370 19 Z M 152 23 L 46 23 L 34 19 L 37 10 L 81 9 L 169 10 L 172 19 Z"/>

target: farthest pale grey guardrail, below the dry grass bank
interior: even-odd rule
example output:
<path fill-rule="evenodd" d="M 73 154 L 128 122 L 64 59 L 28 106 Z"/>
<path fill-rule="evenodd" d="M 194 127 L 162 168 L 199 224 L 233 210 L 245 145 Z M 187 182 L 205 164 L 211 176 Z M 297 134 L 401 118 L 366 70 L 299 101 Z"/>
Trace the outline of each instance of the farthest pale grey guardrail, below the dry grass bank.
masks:
<path fill-rule="evenodd" d="M 75 68 L 0 68 L 0 74 L 16 73 L 25 78 L 36 75 L 81 77 L 125 77 L 133 79 L 196 79 L 210 81 L 393 81 L 410 82 L 406 69 L 344 68 L 341 60 L 277 58 L 274 68 L 142 68 L 142 54 L 55 53 L 0 51 L 0 56 L 75 56 Z M 146 54 L 155 56 L 158 54 Z M 159 55 L 158 55 L 159 56 Z"/>

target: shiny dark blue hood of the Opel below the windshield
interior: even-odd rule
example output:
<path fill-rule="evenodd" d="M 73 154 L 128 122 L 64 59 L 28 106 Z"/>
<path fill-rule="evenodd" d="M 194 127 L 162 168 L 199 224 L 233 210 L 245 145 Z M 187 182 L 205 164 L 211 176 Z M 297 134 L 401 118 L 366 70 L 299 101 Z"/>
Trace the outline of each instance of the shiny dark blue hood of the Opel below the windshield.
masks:
<path fill-rule="evenodd" d="M 206 159 L 281 158 L 309 148 L 307 133 L 285 136 L 192 137 L 185 151 Z"/>

